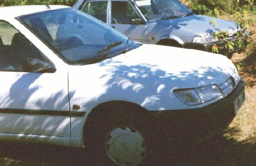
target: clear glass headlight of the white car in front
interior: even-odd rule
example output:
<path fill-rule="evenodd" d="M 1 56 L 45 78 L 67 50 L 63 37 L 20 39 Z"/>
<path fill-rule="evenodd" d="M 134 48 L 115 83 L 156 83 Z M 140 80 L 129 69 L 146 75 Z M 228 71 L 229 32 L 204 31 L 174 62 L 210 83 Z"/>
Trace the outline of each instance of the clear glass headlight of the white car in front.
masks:
<path fill-rule="evenodd" d="M 202 104 L 223 95 L 222 90 L 214 84 L 194 89 L 176 89 L 173 92 L 179 100 L 189 106 Z"/>

